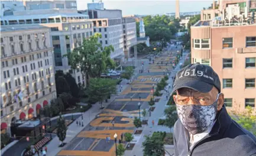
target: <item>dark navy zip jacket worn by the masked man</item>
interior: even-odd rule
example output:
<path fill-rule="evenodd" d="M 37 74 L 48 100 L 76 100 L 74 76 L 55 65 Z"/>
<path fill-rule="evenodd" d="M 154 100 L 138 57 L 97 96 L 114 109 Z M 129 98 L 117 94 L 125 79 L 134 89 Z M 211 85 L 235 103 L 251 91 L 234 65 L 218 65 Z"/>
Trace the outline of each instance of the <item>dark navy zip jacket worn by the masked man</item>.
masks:
<path fill-rule="evenodd" d="M 218 112 L 212 131 L 189 150 L 189 132 L 180 119 L 173 132 L 175 156 L 255 156 L 256 138 L 231 119 L 225 106 Z"/>

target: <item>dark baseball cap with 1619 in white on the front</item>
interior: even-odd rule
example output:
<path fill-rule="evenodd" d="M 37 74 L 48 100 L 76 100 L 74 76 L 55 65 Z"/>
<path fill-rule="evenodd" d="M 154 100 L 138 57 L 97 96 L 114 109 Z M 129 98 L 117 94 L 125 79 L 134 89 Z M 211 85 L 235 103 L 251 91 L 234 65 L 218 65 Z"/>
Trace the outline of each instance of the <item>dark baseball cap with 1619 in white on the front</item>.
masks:
<path fill-rule="evenodd" d="M 210 66 L 195 63 L 189 64 L 177 72 L 173 92 L 182 87 L 187 87 L 198 92 L 208 93 L 213 86 L 221 93 L 221 82 L 218 74 Z"/>

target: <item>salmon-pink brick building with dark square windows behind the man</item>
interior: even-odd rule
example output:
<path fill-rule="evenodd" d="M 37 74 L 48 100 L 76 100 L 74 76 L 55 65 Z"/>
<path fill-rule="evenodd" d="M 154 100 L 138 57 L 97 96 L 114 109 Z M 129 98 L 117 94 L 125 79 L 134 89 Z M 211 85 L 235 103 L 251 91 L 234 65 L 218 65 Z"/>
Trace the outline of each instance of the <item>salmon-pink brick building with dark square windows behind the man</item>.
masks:
<path fill-rule="evenodd" d="M 245 22 L 234 22 L 238 20 L 231 12 L 222 16 L 226 20 L 203 20 L 191 27 L 192 63 L 207 64 L 216 71 L 229 110 L 240 112 L 251 106 L 256 111 L 256 19 L 251 12 Z"/>

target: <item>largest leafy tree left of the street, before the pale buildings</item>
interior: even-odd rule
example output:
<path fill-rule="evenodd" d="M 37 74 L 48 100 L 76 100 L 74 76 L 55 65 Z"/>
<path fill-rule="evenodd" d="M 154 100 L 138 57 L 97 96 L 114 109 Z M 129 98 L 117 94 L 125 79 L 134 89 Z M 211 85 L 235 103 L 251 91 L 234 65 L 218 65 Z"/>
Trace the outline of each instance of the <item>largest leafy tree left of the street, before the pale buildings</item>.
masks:
<path fill-rule="evenodd" d="M 114 61 L 110 58 L 114 47 L 109 45 L 102 48 L 101 43 L 98 43 L 101 37 L 101 34 L 95 33 L 89 38 L 83 38 L 83 44 L 80 47 L 74 48 L 72 52 L 63 56 L 69 59 L 72 69 L 80 68 L 83 76 L 86 76 L 87 84 L 90 77 L 100 77 L 103 71 L 115 67 Z"/>

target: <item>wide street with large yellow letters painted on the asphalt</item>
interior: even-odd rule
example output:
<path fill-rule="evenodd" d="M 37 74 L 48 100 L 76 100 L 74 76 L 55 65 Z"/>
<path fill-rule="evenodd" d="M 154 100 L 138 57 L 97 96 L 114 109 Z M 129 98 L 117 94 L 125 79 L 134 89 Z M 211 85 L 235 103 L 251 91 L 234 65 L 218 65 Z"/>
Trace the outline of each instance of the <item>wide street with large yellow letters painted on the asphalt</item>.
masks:
<path fill-rule="evenodd" d="M 141 103 L 140 110 L 148 110 L 148 102 L 153 96 L 151 93 L 153 84 L 156 85 L 161 80 L 164 72 L 166 74 L 166 69 L 169 71 L 172 69 L 170 61 L 174 58 L 171 54 L 164 54 L 155 58 L 154 64 L 150 64 L 148 69 L 144 69 L 144 73 L 138 74 L 132 84 L 126 87 L 57 155 L 115 155 L 114 134 L 116 133 L 117 139 L 119 139 L 122 133 L 134 132 L 135 127 L 132 118 L 139 116 L 138 103 Z M 164 63 L 161 64 L 161 61 Z M 160 64 L 161 68 L 159 67 Z M 111 138 L 109 143 L 106 142 L 106 137 Z"/>

